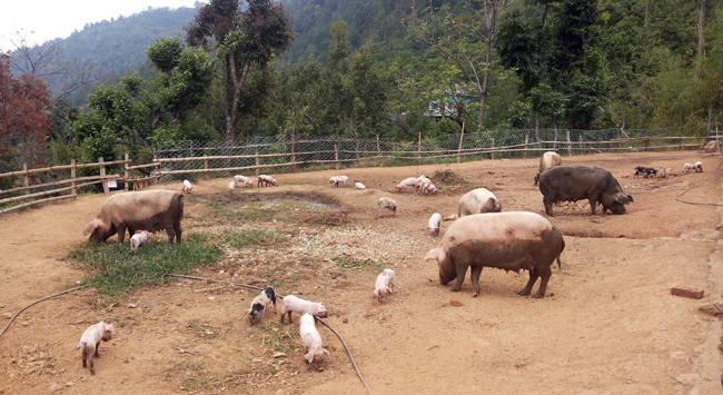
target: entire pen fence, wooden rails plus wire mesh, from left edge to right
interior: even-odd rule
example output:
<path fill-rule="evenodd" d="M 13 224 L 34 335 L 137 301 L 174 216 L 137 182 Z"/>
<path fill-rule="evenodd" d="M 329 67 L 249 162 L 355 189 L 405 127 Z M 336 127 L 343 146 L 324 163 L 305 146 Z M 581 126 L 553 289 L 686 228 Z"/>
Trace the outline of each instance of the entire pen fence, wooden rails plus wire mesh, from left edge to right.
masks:
<path fill-rule="evenodd" d="M 651 132 L 667 136 L 652 136 Z M 677 134 L 675 134 L 677 135 Z M 123 160 L 52 166 L 0 174 L 1 178 L 22 178 L 22 186 L 0 190 L 0 205 L 20 200 L 27 203 L 0 209 L 0 214 L 36 204 L 75 198 L 80 188 L 101 184 L 109 194 L 108 181 L 123 182 L 125 190 L 145 188 L 149 182 L 172 180 L 189 175 L 227 174 L 230 171 L 284 172 L 316 169 L 339 169 L 361 166 L 402 166 L 458 162 L 460 160 L 538 157 L 548 150 L 561 155 L 594 152 L 626 152 L 652 150 L 695 149 L 707 137 L 673 136 L 670 129 L 656 130 L 497 130 L 450 135 L 445 139 L 422 140 L 416 144 L 397 142 L 388 138 L 320 138 L 290 139 L 286 136 L 256 137 L 248 144 L 204 147 L 194 141 L 166 141 L 153 150 L 150 164 L 130 166 L 128 152 Z M 210 155 L 209 155 L 210 154 Z M 106 174 L 112 167 L 118 174 Z M 98 168 L 100 175 L 78 177 L 76 170 Z M 150 169 L 150 171 L 148 170 Z M 69 171 L 68 171 L 69 170 Z M 32 185 L 31 176 L 58 172 L 61 179 Z M 227 176 L 227 175 L 224 175 Z M 18 180 L 16 185 L 19 185 Z M 81 181 L 87 181 L 79 184 Z M 69 187 L 58 187 L 70 184 Z M 55 187 L 55 188 L 53 188 Z M 36 190 L 31 192 L 31 190 Z M 50 196 L 49 195 L 59 195 Z M 38 199 L 39 198 L 39 199 Z"/>

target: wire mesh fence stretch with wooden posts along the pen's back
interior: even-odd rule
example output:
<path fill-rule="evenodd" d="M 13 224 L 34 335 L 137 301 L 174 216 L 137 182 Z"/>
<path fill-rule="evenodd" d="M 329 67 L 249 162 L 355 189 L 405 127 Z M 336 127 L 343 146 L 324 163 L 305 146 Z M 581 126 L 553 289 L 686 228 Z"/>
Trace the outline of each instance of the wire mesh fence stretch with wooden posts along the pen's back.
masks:
<path fill-rule="evenodd" d="M 696 149 L 705 137 L 674 136 L 671 129 L 522 129 L 448 135 L 416 144 L 390 138 L 255 137 L 231 145 L 165 141 L 155 150 L 161 180 L 308 171 L 368 166 L 448 164 L 481 159 L 596 152 Z"/>

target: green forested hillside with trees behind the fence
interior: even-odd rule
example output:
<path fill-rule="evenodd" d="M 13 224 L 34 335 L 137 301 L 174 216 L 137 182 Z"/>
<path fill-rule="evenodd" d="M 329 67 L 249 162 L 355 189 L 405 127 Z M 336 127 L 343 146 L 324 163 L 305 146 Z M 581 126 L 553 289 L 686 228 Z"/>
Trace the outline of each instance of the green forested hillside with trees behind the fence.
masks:
<path fill-rule="evenodd" d="M 723 115 L 706 0 L 210 0 L 0 53 L 0 172 L 160 141 L 667 130 Z"/>

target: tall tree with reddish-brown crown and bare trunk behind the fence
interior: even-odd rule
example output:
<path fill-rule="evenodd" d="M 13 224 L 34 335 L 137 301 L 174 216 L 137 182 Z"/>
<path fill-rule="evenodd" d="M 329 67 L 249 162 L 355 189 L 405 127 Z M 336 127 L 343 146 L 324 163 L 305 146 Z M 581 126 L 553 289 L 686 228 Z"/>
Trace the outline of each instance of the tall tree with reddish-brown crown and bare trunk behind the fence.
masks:
<path fill-rule="evenodd" d="M 284 4 L 274 0 L 211 0 L 198 9 L 186 27 L 187 41 L 195 47 L 215 47 L 224 67 L 225 140 L 236 136 L 241 93 L 252 68 L 265 68 L 293 38 Z"/>

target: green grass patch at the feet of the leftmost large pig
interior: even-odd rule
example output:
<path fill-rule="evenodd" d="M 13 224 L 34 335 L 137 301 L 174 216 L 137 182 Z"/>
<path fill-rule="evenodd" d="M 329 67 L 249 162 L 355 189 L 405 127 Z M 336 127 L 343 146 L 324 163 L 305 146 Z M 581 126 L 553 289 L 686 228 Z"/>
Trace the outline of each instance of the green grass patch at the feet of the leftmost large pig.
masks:
<path fill-rule="evenodd" d="M 221 255 L 208 236 L 191 234 L 181 244 L 156 241 L 135 253 L 127 243 L 83 243 L 68 258 L 93 270 L 83 284 L 90 284 L 99 294 L 119 298 L 140 287 L 175 280 L 164 277 L 165 274 L 186 274 L 194 267 L 212 265 Z"/>

